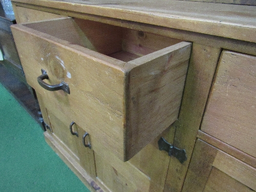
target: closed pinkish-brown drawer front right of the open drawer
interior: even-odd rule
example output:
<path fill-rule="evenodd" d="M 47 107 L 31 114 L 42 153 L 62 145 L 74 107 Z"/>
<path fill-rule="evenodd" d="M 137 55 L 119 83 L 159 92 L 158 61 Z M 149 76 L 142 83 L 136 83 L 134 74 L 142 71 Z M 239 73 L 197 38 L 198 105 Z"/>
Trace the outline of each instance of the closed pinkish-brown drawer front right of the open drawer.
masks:
<path fill-rule="evenodd" d="M 223 51 L 201 130 L 256 157 L 256 57 Z"/>

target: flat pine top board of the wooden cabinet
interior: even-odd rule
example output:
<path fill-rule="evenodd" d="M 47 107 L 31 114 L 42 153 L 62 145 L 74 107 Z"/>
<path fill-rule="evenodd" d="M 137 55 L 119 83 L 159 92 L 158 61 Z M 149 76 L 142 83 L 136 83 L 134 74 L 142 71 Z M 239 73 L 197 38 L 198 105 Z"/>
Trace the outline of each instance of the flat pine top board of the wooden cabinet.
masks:
<path fill-rule="evenodd" d="M 256 42 L 256 6 L 177 0 L 14 0 Z"/>

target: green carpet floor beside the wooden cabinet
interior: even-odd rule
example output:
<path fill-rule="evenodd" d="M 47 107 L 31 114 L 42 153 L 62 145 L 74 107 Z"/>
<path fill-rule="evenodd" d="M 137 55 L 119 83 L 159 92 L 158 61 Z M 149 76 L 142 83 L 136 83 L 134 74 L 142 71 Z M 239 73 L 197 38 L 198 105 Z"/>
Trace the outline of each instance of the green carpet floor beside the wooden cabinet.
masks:
<path fill-rule="evenodd" d="M 0 84 L 0 192 L 85 191 L 36 121 Z"/>

